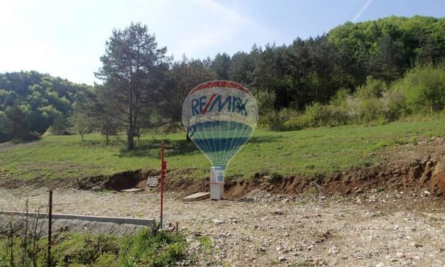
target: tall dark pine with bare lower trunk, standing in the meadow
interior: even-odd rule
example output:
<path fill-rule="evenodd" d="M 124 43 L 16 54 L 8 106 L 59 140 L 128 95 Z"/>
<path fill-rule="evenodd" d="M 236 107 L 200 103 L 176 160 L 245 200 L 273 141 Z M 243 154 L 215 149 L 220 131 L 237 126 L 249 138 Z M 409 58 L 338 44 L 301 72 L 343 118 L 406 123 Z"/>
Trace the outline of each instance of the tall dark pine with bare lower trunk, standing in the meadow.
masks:
<path fill-rule="evenodd" d="M 96 77 L 104 80 L 109 114 L 125 118 L 128 149 L 134 148 L 134 136 L 141 128 L 141 116 L 150 116 L 157 107 L 170 58 L 167 48 L 158 48 L 155 36 L 147 26 L 131 23 L 123 30 L 114 30 L 106 41 L 103 66 Z"/>

